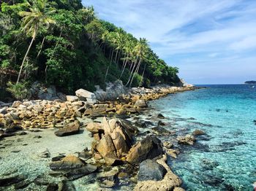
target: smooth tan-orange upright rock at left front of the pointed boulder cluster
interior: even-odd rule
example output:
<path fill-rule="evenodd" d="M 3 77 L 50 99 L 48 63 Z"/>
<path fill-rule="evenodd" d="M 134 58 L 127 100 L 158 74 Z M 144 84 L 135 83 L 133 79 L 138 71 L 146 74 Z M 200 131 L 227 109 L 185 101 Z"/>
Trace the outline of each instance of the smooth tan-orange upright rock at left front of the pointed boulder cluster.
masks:
<path fill-rule="evenodd" d="M 100 139 L 99 144 L 97 144 L 97 151 L 102 157 L 117 157 L 116 148 L 109 134 L 106 134 Z"/>

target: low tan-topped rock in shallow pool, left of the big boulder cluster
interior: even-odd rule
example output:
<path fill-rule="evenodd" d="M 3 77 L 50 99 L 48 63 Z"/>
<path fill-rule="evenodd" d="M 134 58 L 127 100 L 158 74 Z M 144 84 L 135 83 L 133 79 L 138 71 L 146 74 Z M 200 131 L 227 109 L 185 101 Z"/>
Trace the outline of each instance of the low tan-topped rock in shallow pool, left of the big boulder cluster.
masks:
<path fill-rule="evenodd" d="M 59 161 L 50 163 L 50 169 L 53 171 L 64 171 L 71 170 L 74 168 L 81 168 L 85 165 L 83 160 L 73 155 L 67 155 L 67 157 L 62 158 Z"/>

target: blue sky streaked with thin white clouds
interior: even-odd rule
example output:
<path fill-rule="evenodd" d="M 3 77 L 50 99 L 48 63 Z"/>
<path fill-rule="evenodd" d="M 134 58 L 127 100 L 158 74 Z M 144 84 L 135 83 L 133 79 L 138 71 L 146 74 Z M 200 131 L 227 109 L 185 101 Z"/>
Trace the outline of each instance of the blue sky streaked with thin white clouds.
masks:
<path fill-rule="evenodd" d="M 256 80 L 256 0 L 83 0 L 197 85 Z"/>

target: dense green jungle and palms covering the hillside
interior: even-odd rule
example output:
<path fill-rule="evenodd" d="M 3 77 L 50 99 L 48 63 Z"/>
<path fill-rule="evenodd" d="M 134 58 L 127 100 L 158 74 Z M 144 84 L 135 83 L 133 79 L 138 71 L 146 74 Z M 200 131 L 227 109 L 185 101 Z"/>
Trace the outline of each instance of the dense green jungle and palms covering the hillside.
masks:
<path fill-rule="evenodd" d="M 12 0 L 1 4 L 1 87 L 38 80 L 66 93 L 121 79 L 127 86 L 175 84 L 178 69 L 122 28 L 99 20 L 80 0 Z M 8 82 L 11 81 L 11 82 Z"/>

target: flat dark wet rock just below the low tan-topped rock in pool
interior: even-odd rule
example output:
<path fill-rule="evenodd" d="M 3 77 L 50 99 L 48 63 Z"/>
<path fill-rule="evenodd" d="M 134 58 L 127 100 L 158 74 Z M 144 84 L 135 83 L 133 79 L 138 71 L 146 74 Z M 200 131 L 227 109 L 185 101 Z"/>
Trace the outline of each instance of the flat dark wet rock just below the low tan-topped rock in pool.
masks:
<path fill-rule="evenodd" d="M 97 170 L 96 165 L 86 164 L 82 168 L 77 168 L 72 171 L 69 171 L 67 174 L 64 174 L 64 176 L 66 176 L 67 179 L 69 179 L 69 180 L 75 180 L 75 179 L 79 179 L 82 176 L 91 174 L 96 170 Z"/>

